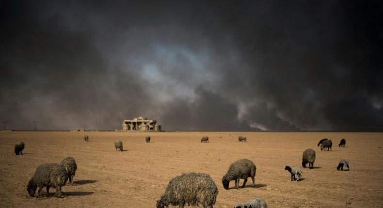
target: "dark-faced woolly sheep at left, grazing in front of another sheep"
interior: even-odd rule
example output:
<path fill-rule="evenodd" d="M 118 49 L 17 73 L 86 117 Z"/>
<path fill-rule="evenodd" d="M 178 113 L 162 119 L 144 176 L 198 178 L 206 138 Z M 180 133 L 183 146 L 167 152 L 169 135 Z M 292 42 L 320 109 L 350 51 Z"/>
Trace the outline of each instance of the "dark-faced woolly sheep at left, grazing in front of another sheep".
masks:
<path fill-rule="evenodd" d="M 37 167 L 34 176 L 28 182 L 27 191 L 31 197 L 37 190 L 36 198 L 40 196 L 41 189 L 47 187 L 47 197 L 49 196 L 49 188 L 56 188 L 55 196 L 61 197 L 61 187 L 65 185 L 67 173 L 63 165 L 59 163 L 45 163 Z"/>

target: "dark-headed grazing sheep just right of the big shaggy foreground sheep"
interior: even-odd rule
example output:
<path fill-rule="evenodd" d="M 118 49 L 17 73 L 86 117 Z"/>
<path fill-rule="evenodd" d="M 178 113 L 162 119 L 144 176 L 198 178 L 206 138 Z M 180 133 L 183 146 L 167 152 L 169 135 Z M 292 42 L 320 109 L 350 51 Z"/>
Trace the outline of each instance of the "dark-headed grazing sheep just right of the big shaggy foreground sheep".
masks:
<path fill-rule="evenodd" d="M 240 159 L 231 163 L 229 169 L 222 178 L 223 187 L 226 190 L 229 189 L 230 180 L 235 180 L 235 187 L 239 189 L 239 179 L 242 178 L 244 179 L 242 188 L 244 188 L 248 177 L 251 177 L 253 180 L 253 187 L 255 187 L 255 172 L 255 164 L 248 159 Z"/>

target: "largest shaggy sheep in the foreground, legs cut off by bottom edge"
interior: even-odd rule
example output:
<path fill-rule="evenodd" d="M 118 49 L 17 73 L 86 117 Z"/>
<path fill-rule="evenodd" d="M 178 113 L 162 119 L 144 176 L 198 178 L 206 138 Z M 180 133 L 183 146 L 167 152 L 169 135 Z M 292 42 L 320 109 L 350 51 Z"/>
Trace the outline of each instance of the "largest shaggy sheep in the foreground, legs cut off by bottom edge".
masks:
<path fill-rule="evenodd" d="M 213 208 L 217 200 L 218 188 L 209 175 L 204 173 L 184 173 L 170 180 L 165 193 L 157 201 L 157 208 L 169 205 L 183 208 L 185 204 Z"/>

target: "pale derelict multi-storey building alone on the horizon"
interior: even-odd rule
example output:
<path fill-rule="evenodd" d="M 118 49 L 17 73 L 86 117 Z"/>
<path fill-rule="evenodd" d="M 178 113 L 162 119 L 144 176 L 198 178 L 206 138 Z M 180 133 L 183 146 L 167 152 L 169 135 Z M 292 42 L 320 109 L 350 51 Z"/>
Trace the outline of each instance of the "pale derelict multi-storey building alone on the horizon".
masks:
<path fill-rule="evenodd" d="M 157 120 L 149 120 L 143 117 L 138 117 L 132 120 L 124 120 L 122 122 L 122 131 L 160 132 L 161 125 L 157 124 Z"/>

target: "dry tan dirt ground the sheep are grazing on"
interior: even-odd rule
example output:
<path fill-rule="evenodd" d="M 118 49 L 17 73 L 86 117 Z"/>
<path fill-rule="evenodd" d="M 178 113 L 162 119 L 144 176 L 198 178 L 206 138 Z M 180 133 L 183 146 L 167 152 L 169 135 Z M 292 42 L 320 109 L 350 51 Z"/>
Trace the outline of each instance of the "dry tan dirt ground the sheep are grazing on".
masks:
<path fill-rule="evenodd" d="M 200 142 L 204 135 L 209 143 Z M 238 142 L 238 135 L 248 142 Z M 332 138 L 332 151 L 320 151 L 321 138 Z M 337 146 L 342 138 L 346 148 Z M 115 150 L 116 139 L 125 151 Z M 169 180 L 191 171 L 215 181 L 215 208 L 255 197 L 263 197 L 269 208 L 383 207 L 383 133 L 0 132 L 0 141 L 0 207 L 154 208 Z M 23 155 L 14 154 L 17 141 L 25 143 Z M 317 153 L 311 170 L 301 165 L 308 148 Z M 52 197 L 30 197 L 26 185 L 36 167 L 68 156 L 78 169 L 76 185 L 63 187 L 65 197 L 53 197 L 53 188 Z M 231 181 L 224 190 L 221 178 L 230 163 L 242 158 L 256 165 L 256 187 L 249 178 L 243 189 L 233 189 Z M 351 171 L 336 170 L 340 159 L 350 161 Z M 290 181 L 286 165 L 300 167 L 303 180 Z"/>

